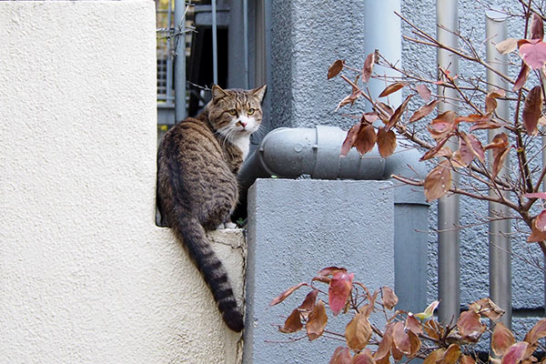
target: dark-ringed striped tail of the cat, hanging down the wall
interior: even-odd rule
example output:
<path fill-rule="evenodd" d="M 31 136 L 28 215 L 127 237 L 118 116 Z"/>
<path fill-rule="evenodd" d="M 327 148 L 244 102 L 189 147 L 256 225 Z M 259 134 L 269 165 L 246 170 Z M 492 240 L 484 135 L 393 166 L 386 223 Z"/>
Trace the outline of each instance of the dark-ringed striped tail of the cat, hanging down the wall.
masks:
<path fill-rule="evenodd" d="M 241 331 L 244 328 L 243 315 L 238 309 L 226 268 L 212 250 L 205 229 L 195 217 L 176 215 L 178 216 L 172 222 L 172 227 L 177 238 L 184 243 L 187 253 L 205 278 L 227 327 L 237 332 Z"/>

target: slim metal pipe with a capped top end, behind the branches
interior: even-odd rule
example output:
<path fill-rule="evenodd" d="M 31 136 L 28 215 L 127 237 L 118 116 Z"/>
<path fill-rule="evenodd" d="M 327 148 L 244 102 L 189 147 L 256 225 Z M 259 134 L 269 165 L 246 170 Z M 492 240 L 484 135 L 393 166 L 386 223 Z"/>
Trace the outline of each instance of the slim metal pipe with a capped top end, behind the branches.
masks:
<path fill-rule="evenodd" d="M 487 42 L 487 62 L 499 70 L 504 75 L 508 75 L 508 57 L 500 55 L 495 49 L 495 44 L 507 38 L 506 31 L 506 15 L 501 12 L 487 11 L 486 12 L 486 39 Z M 502 78 L 490 70 L 487 71 L 488 90 L 492 91 L 500 87 L 508 87 Z M 505 120 L 510 117 L 510 109 L 508 101 L 498 100 L 497 115 Z M 499 130 L 490 130 L 488 133 L 489 142 L 493 136 L 499 133 Z M 492 153 L 489 153 L 490 166 L 493 163 Z M 509 172 L 508 158 L 506 159 L 502 174 L 506 176 Z M 497 196 L 494 191 L 490 191 L 491 196 Z M 504 193 L 506 197 L 510 197 L 510 193 Z M 490 217 L 492 212 L 497 211 L 502 216 L 509 216 L 510 210 L 508 207 L 494 202 L 489 204 Z M 511 328 L 511 241 L 509 238 L 511 230 L 511 220 L 505 219 L 500 221 L 491 221 L 490 229 L 490 298 L 499 307 L 504 309 L 506 313 L 501 321 L 507 328 Z"/>

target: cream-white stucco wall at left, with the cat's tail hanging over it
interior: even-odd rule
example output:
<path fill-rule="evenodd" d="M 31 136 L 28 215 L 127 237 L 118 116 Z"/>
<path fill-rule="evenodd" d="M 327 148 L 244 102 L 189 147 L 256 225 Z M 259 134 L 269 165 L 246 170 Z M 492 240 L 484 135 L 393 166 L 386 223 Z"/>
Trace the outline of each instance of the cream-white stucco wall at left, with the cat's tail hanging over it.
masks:
<path fill-rule="evenodd" d="M 153 1 L 0 2 L 0 34 L 0 361 L 236 362 L 155 226 Z M 218 234 L 240 293 L 242 236 Z"/>

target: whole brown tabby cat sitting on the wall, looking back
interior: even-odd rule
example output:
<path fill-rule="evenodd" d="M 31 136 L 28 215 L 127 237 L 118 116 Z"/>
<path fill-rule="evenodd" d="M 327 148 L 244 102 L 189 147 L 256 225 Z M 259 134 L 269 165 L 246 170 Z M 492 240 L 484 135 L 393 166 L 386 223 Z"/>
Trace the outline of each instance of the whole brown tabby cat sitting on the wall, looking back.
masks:
<path fill-rule="evenodd" d="M 205 235 L 229 221 L 238 202 L 238 170 L 250 134 L 261 122 L 266 86 L 252 90 L 212 87 L 203 112 L 172 127 L 157 153 L 157 207 L 210 288 L 229 329 L 241 331 L 243 315 L 226 268 Z"/>

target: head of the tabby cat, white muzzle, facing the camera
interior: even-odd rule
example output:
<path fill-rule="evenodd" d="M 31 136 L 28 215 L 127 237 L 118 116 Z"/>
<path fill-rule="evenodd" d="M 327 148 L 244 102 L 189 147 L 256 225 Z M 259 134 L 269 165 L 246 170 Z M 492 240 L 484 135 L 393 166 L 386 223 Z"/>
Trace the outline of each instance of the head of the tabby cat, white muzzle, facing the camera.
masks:
<path fill-rule="evenodd" d="M 265 93 L 266 85 L 252 90 L 212 86 L 212 100 L 207 106 L 211 126 L 228 139 L 254 133 L 261 123 Z"/>

